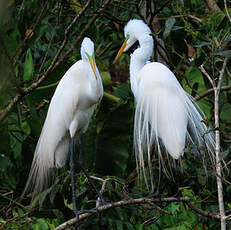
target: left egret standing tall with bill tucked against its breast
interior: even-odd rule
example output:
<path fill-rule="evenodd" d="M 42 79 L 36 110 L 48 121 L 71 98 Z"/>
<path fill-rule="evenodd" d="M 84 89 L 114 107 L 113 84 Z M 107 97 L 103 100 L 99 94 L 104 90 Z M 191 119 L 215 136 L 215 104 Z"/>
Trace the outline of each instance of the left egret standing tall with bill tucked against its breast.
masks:
<path fill-rule="evenodd" d="M 53 168 L 63 167 L 70 151 L 73 207 L 77 222 L 74 139 L 86 132 L 94 109 L 103 96 L 102 80 L 95 64 L 94 43 L 90 38 L 83 39 L 80 53 L 82 59 L 67 70 L 51 99 L 24 190 L 33 190 L 33 197 L 44 190 L 51 182 Z"/>

